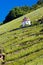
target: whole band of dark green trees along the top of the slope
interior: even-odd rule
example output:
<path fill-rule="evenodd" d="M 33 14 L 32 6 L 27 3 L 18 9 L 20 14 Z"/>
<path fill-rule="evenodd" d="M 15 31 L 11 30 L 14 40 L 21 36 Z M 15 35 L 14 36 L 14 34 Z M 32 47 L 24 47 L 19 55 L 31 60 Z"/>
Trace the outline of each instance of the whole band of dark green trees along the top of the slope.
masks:
<path fill-rule="evenodd" d="M 27 14 L 33 10 L 36 10 L 37 8 L 43 6 L 43 0 L 38 0 L 37 4 L 33 5 L 32 7 L 29 6 L 22 6 L 22 7 L 15 7 L 12 9 L 9 14 L 5 17 L 4 23 L 7 23 L 13 19 L 16 19 L 20 16 L 23 16 L 24 14 Z"/>

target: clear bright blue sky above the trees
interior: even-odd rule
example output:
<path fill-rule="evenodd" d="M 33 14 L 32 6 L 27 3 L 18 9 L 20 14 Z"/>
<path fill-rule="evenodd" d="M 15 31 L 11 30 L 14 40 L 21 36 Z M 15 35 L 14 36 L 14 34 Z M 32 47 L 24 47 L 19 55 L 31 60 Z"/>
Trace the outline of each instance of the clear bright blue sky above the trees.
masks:
<path fill-rule="evenodd" d="M 32 6 L 37 0 L 0 0 L 0 22 L 2 22 L 10 10 L 17 6 Z"/>

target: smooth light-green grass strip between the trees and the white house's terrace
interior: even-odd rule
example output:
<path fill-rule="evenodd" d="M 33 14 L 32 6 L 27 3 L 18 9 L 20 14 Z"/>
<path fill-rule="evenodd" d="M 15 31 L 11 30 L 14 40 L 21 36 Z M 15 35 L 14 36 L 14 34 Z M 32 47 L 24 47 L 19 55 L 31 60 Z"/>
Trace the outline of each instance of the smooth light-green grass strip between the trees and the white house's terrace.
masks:
<path fill-rule="evenodd" d="M 43 16 L 42 12 L 43 12 L 43 7 L 36 10 L 36 11 L 33 11 L 33 12 L 29 13 L 29 14 L 26 14 L 24 16 L 29 17 L 30 20 L 33 22 L 33 21 L 35 21 L 35 20 L 37 20 L 37 19 L 39 19 L 39 18 L 41 18 Z M 15 20 L 1 26 L 0 27 L 0 34 L 6 32 L 6 31 L 12 30 L 14 28 L 18 28 L 21 25 L 21 21 L 24 18 L 24 16 L 22 16 L 22 17 L 20 17 L 18 19 L 15 19 Z"/>

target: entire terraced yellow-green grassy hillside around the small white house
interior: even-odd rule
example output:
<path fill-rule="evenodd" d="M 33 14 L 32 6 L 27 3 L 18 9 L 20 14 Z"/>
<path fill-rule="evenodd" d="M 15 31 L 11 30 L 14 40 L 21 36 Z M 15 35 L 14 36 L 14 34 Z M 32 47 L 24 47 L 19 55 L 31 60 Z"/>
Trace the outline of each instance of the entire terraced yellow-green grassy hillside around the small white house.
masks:
<path fill-rule="evenodd" d="M 43 7 L 25 16 L 34 23 L 43 16 L 42 12 Z M 0 26 L 0 48 L 6 54 L 4 65 L 43 65 L 43 24 L 13 30 L 20 27 L 23 17 Z"/>

